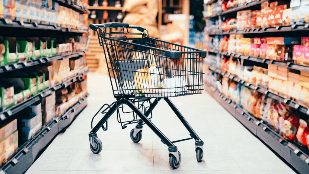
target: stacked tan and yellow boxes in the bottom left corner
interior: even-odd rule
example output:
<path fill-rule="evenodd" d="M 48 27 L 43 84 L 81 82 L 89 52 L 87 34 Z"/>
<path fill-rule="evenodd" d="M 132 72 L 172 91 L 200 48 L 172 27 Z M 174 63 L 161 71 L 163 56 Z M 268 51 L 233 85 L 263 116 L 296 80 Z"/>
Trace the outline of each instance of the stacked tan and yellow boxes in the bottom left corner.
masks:
<path fill-rule="evenodd" d="M 17 120 L 2 124 L 0 128 L 0 166 L 18 149 Z"/>

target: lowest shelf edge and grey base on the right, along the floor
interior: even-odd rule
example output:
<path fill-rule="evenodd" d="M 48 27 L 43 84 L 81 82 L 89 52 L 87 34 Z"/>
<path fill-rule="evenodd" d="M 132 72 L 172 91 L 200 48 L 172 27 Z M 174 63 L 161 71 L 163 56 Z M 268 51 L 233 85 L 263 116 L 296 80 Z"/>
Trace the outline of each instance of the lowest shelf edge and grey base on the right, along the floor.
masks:
<path fill-rule="evenodd" d="M 299 149 L 292 142 L 285 140 L 277 132 L 273 131 L 263 120 L 258 120 L 250 113 L 244 111 L 235 102 L 225 98 L 213 87 L 205 87 L 206 91 L 214 97 L 228 112 L 260 140 L 264 141 L 277 154 L 290 163 L 301 174 L 309 173 L 309 155 Z"/>

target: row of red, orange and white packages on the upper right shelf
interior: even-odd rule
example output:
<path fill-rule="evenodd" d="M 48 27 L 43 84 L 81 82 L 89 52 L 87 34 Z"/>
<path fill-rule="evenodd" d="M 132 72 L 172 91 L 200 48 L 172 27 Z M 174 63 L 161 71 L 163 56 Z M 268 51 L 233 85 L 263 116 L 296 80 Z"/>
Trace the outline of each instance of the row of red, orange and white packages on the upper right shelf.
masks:
<path fill-rule="evenodd" d="M 218 3 L 220 3 L 220 1 L 218 1 Z M 222 4 L 228 5 L 229 3 Z M 261 10 L 237 11 L 236 18 L 222 16 L 219 19 L 209 20 L 213 22 L 214 25 L 219 24 L 223 31 L 307 24 L 309 22 L 309 18 L 307 17 L 309 14 L 307 5 L 308 3 L 306 1 L 300 2 L 300 0 L 292 0 L 291 2 L 266 1 L 261 3 Z M 209 9 L 210 6 L 214 5 L 208 5 L 207 9 Z M 226 7 L 222 8 L 223 11 L 225 11 L 225 9 Z"/>

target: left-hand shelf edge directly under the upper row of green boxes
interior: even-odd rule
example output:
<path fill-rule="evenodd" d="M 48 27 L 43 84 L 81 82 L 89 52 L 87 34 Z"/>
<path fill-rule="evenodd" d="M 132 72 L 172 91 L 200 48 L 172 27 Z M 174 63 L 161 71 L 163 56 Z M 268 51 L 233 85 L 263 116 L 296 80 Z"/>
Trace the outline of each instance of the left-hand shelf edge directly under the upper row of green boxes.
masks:
<path fill-rule="evenodd" d="M 34 65 L 39 65 L 41 63 L 46 63 L 52 60 L 59 60 L 59 59 L 68 59 L 68 58 L 73 58 L 73 57 L 78 57 L 85 54 L 85 51 L 80 51 L 80 52 L 73 52 L 73 53 L 67 53 L 67 54 L 61 54 L 61 55 L 56 55 L 52 57 L 43 57 L 35 60 L 30 60 L 30 61 L 24 61 L 24 62 L 17 62 L 9 65 L 0 65 L 0 74 L 4 72 L 10 72 L 18 69 L 22 69 L 25 67 L 31 67 Z"/>

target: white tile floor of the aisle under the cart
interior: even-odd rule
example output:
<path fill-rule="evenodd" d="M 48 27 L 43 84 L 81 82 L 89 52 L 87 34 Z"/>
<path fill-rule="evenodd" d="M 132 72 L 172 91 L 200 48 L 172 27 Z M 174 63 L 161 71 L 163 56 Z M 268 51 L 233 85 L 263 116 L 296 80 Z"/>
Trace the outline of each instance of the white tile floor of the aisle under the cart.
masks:
<path fill-rule="evenodd" d="M 106 75 L 89 73 L 88 91 L 88 106 L 53 140 L 26 174 L 295 173 L 205 91 L 199 95 L 171 98 L 205 142 L 202 162 L 196 160 L 194 140 L 178 142 L 175 145 L 182 155 L 181 164 L 172 170 L 167 146 L 159 137 L 145 125 L 142 140 L 134 143 L 129 133 L 135 125 L 121 129 L 116 114 L 108 120 L 108 130 L 98 132 L 103 150 L 93 154 L 88 138 L 91 118 L 104 103 L 112 103 L 115 99 Z M 153 115 L 152 122 L 171 141 L 190 137 L 165 101 L 159 102 Z"/>

